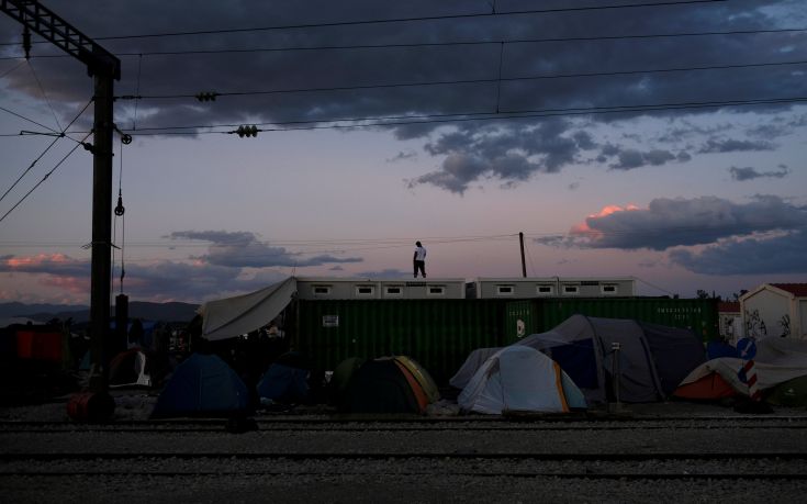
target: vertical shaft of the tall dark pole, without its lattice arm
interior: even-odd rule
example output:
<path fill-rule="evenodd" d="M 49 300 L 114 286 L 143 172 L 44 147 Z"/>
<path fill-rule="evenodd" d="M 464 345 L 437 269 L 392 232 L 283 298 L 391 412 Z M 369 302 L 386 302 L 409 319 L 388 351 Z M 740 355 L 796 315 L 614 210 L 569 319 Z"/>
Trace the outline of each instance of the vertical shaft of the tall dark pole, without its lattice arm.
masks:
<path fill-rule="evenodd" d="M 90 278 L 90 389 L 107 390 L 110 360 L 110 278 L 112 277 L 112 105 L 113 81 L 108 68 L 94 68 L 92 156 L 92 265 Z"/>

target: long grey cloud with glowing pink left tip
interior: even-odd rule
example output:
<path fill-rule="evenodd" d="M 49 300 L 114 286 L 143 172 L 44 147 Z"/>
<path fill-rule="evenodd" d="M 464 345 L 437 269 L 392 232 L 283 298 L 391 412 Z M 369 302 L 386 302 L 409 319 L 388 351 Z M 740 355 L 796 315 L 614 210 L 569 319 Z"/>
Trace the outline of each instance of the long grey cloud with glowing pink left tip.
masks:
<path fill-rule="evenodd" d="M 743 204 L 716 197 L 662 198 L 652 200 L 647 209 L 620 209 L 589 216 L 568 236 L 536 242 L 581 248 L 665 250 L 756 233 L 795 232 L 805 225 L 806 209 L 774 195 L 758 195 Z"/>

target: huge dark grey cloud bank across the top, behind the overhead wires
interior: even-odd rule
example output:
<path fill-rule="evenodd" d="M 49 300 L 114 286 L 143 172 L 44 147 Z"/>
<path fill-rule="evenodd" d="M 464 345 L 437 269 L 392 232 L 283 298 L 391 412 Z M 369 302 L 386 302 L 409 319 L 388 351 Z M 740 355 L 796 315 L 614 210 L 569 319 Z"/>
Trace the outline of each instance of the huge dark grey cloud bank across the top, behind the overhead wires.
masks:
<path fill-rule="evenodd" d="M 562 3 L 562 2 L 560 2 Z M 144 99 L 137 107 L 138 130 L 148 127 L 327 122 L 359 117 L 410 117 L 407 124 L 384 126 L 400 139 L 423 138 L 425 150 L 438 157 L 438 168 L 410 180 L 410 186 L 434 184 L 462 193 L 475 181 L 494 179 L 504 186 L 535 173 L 558 172 L 581 160 L 586 152 L 604 149 L 576 121 L 519 119 L 517 121 L 457 123 L 417 122 L 447 114 L 503 115 L 535 111 L 615 105 L 749 100 L 805 96 L 807 81 L 800 67 L 759 68 L 664 74 L 558 77 L 573 74 L 614 74 L 639 69 L 686 68 L 749 63 L 803 60 L 807 55 L 804 33 L 732 36 L 669 37 L 646 40 L 512 43 L 497 41 L 592 35 L 676 33 L 775 29 L 792 25 L 797 0 L 737 0 L 642 9 L 578 11 L 554 14 L 496 15 L 450 21 L 352 26 L 271 30 L 203 36 L 100 40 L 105 35 L 165 33 L 194 30 L 242 29 L 283 24 L 327 23 L 348 20 L 417 18 L 422 15 L 490 12 L 489 2 L 412 1 L 404 3 L 327 0 L 306 2 L 158 1 L 108 2 L 52 0 L 48 8 L 82 32 L 98 37 L 121 56 L 123 79 L 116 93 L 143 97 L 192 96 L 200 91 L 260 94 L 222 96 L 215 102 L 192 98 Z M 500 1 L 496 11 L 536 9 L 534 2 Z M 191 15 L 192 13 L 192 15 Z M 637 22 L 640 20 L 641 22 Z M 19 41 L 20 27 L 0 20 L 0 42 Z M 200 49 L 254 49 L 356 44 L 390 45 L 423 42 L 479 42 L 484 45 L 385 47 L 349 51 L 276 51 L 227 54 L 148 55 L 150 52 Z M 7 54 L 20 55 L 19 47 Z M 91 85 L 82 66 L 70 58 L 38 58 L 55 54 L 46 44 L 34 46 L 32 65 L 56 108 L 65 115 L 90 98 Z M 144 56 L 137 56 L 145 54 Z M 628 55 L 629 57 L 626 57 Z M 500 56 L 502 56 L 500 58 Z M 0 71 L 3 68 L 0 67 Z M 442 83 L 496 79 L 502 82 Z M 540 77 L 540 79 L 533 79 Z M 5 77 L 10 86 L 40 97 L 41 90 L 20 71 Z M 424 83 L 429 86 L 397 86 Z M 333 88 L 377 86 L 377 89 Z M 321 89 L 313 91 L 312 89 Z M 323 91 L 322 89 L 332 89 Z M 306 89 L 305 92 L 287 92 Z M 786 104 L 753 109 L 764 116 L 785 111 Z M 748 110 L 748 109 L 746 109 Z M 117 123 L 134 125 L 135 103 L 116 102 Z M 685 119 L 700 111 L 657 112 Z M 593 115 L 591 124 L 618 122 L 640 113 Z M 474 115 L 471 115 L 474 116 Z M 478 116 L 478 115 L 475 115 Z M 414 122 L 413 122 L 414 121 Z M 722 119 L 725 122 L 725 117 Z M 493 125 L 493 126 L 492 126 Z M 637 149 L 619 145 L 616 154 L 585 156 L 610 163 L 616 169 L 662 166 L 682 160 L 695 149 L 679 143 L 692 136 L 686 124 L 673 124 L 677 134 L 657 138 L 659 145 Z M 756 139 L 715 138 L 700 153 L 727 153 L 773 148 L 772 135 L 793 131 L 794 121 L 770 123 Z M 700 133 L 703 134 L 703 133 Z M 749 132 L 750 134 L 750 132 Z M 764 135 L 769 135 L 767 137 Z M 639 139 L 641 141 L 641 139 Z M 636 142 L 636 141 L 634 141 Z M 666 144 L 669 142 L 669 144 Z M 665 145 L 666 144 L 666 145 Z M 604 149 L 605 150 L 605 149 Z M 393 155 L 391 153 L 391 155 Z M 265 250 L 269 253 L 269 250 Z M 281 251 L 278 251 L 282 255 Z"/>

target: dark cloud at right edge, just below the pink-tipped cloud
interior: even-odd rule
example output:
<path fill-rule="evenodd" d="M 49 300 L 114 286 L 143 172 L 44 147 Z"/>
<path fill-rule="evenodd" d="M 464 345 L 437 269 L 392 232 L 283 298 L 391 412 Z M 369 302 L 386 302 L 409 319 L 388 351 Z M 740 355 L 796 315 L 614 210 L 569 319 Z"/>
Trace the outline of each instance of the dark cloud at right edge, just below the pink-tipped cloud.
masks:
<path fill-rule="evenodd" d="M 796 231 L 767 239 L 730 238 L 700 251 L 674 249 L 670 259 L 704 275 L 800 275 L 807 272 L 807 233 Z"/>

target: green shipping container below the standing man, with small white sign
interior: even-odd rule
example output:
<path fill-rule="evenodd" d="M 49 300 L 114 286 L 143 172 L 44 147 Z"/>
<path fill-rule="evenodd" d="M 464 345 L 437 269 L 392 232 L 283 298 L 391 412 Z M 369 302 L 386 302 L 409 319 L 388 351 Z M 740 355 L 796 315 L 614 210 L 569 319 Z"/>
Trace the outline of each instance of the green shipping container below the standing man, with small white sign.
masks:
<path fill-rule="evenodd" d="M 322 370 L 349 357 L 405 355 L 439 385 L 477 348 L 498 347 L 498 300 L 300 300 L 292 346 Z"/>

